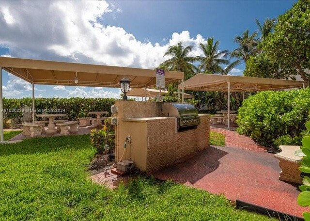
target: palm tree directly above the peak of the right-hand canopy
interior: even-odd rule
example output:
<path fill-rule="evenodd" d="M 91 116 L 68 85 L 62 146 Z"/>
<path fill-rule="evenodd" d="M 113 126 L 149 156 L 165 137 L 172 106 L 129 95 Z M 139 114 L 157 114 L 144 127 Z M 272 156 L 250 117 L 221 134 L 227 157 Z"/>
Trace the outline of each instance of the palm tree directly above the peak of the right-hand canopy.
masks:
<path fill-rule="evenodd" d="M 198 68 L 203 73 L 208 74 L 225 74 L 227 75 L 239 61 L 230 63 L 228 59 L 225 59 L 229 54 L 229 50 L 220 51 L 218 49 L 219 41 L 213 42 L 213 38 L 208 38 L 206 44 L 200 43 L 200 48 L 202 49 L 204 56 L 197 56 L 197 61 L 200 62 Z M 228 65 L 223 68 L 221 65 Z"/>

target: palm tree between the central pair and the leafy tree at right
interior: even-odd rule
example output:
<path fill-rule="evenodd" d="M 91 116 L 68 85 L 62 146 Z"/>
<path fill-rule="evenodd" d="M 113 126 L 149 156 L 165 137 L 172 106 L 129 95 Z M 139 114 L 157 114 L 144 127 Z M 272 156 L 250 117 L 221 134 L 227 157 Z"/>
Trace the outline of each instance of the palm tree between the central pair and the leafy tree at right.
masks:
<path fill-rule="evenodd" d="M 231 57 L 238 58 L 238 60 L 243 60 L 246 63 L 250 56 L 256 55 L 259 52 L 256 37 L 257 32 L 249 34 L 248 30 L 243 32 L 241 36 L 237 35 L 234 38 L 234 42 L 238 44 L 238 48 L 232 51 Z"/>

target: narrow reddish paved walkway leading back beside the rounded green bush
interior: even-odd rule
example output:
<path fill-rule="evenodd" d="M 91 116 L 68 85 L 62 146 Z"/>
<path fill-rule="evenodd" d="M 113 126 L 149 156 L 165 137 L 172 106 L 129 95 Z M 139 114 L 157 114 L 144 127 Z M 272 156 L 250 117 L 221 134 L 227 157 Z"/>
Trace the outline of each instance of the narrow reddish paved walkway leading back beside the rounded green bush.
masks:
<path fill-rule="evenodd" d="M 240 135 L 235 131 L 225 128 L 210 127 L 210 131 L 218 132 L 225 135 L 225 146 L 248 149 L 256 152 L 266 152 L 266 149 L 256 144 L 251 138 Z"/>

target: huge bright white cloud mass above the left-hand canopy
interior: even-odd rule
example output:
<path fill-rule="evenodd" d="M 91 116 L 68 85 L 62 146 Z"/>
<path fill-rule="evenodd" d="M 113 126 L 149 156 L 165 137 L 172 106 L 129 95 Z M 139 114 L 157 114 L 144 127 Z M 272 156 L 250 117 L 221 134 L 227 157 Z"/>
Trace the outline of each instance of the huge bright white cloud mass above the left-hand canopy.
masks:
<path fill-rule="evenodd" d="M 168 47 L 183 41 L 201 55 L 202 35 L 172 33 L 166 44 L 141 42 L 122 27 L 105 26 L 104 15 L 121 9 L 106 1 L 1 1 L 0 44 L 15 57 L 150 68 L 167 58 Z M 27 9 L 27 10 L 25 10 Z M 14 22 L 5 16 L 14 15 Z M 2 18 L 2 19 L 1 19 Z M 100 22 L 99 22 L 100 20 Z M 40 22 L 38 22 L 40 21 Z"/>

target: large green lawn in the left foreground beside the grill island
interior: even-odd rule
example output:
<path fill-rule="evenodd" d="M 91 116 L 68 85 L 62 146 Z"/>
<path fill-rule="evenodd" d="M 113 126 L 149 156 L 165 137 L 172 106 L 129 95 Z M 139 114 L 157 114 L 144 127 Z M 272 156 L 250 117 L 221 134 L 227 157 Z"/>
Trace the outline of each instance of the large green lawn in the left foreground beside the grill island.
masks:
<path fill-rule="evenodd" d="M 1 219 L 269 220 L 235 209 L 223 196 L 170 181 L 138 177 L 116 190 L 93 184 L 86 168 L 94 153 L 88 135 L 1 145 Z"/>

